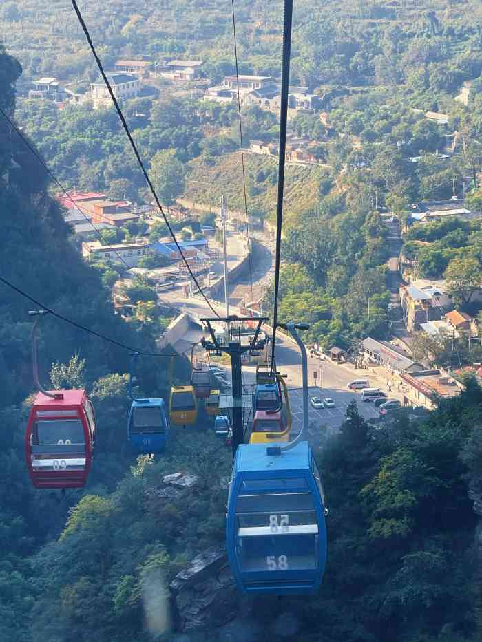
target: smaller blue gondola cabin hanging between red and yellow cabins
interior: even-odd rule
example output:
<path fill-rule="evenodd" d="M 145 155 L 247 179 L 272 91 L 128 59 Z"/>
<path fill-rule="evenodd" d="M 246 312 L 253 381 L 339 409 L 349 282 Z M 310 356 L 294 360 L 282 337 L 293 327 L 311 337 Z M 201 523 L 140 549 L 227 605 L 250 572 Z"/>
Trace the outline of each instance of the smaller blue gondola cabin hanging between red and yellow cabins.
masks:
<path fill-rule="evenodd" d="M 128 439 L 138 455 L 162 453 L 169 434 L 163 399 L 134 399 L 129 412 Z"/>

